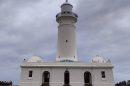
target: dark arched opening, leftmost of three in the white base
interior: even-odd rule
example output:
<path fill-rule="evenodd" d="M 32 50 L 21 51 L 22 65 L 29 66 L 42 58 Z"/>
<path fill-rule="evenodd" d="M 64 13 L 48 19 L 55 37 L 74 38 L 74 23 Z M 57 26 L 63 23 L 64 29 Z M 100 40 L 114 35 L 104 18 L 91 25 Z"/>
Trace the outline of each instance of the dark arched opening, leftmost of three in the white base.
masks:
<path fill-rule="evenodd" d="M 43 72 L 42 86 L 49 86 L 50 73 L 48 71 Z"/>

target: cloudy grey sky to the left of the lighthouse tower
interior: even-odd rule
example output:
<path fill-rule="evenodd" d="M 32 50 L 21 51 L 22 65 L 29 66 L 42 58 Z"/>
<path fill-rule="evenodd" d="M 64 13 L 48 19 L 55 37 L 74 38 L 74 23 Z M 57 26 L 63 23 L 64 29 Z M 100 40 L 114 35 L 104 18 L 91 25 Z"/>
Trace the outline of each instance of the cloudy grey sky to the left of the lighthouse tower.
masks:
<path fill-rule="evenodd" d="M 43 59 L 47 57 L 45 60 L 55 59 L 57 27 L 52 9 L 55 4 L 52 2 L 54 1 L 1 1 L 0 70 L 3 71 L 0 71 L 0 75 L 6 76 L 1 76 L 0 80 L 13 80 L 18 84 L 20 64 L 24 58 L 38 55 Z M 17 75 L 12 76 L 15 74 Z"/>

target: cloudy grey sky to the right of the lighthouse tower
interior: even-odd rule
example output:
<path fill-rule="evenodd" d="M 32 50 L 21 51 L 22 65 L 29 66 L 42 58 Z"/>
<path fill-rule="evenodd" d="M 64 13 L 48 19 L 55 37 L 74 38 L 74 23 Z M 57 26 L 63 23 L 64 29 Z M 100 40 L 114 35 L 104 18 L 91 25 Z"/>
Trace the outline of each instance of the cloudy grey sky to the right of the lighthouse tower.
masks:
<path fill-rule="evenodd" d="M 76 10 L 79 56 L 84 57 L 81 60 L 97 54 L 110 58 L 115 66 L 115 81 L 127 80 L 130 75 L 129 3 L 128 0 L 82 0 Z"/>

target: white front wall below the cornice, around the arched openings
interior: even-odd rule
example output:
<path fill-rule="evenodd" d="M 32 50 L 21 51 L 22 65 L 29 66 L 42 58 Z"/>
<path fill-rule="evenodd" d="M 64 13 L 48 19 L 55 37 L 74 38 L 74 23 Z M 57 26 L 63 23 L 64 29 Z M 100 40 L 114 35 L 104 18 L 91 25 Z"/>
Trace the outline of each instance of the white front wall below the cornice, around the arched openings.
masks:
<path fill-rule="evenodd" d="M 66 67 L 67 68 L 67 67 Z M 22 68 L 20 86 L 41 86 L 42 74 L 50 72 L 50 86 L 64 85 L 64 72 L 66 68 Z M 33 71 L 32 79 L 28 78 L 28 71 Z M 70 72 L 71 86 L 84 86 L 84 72 L 89 71 L 92 75 L 93 86 L 114 86 L 113 72 L 110 68 L 67 68 Z M 106 78 L 101 78 L 101 71 L 106 72 Z"/>

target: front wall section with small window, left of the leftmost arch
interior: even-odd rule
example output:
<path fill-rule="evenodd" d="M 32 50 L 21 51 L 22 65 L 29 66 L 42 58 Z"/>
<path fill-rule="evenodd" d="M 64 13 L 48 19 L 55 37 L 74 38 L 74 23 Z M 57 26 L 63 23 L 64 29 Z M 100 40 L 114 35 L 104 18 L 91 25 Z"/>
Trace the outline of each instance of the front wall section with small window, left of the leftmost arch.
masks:
<path fill-rule="evenodd" d="M 32 78 L 29 78 L 29 71 L 33 71 Z M 42 83 L 42 71 L 40 68 L 22 68 L 20 86 L 40 86 Z"/>

